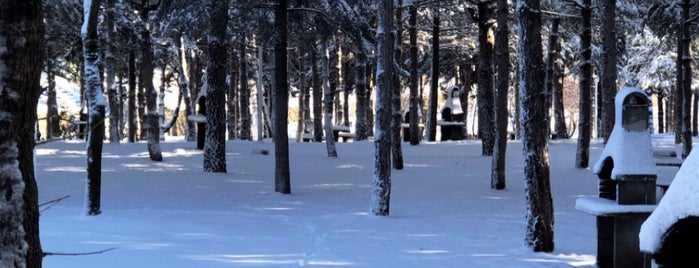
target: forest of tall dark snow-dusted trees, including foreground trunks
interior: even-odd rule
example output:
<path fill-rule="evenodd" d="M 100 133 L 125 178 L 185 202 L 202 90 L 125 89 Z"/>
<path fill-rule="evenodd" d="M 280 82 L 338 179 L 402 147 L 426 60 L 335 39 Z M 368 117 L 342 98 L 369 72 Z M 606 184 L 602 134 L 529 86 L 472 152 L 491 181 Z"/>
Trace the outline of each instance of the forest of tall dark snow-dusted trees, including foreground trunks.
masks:
<path fill-rule="evenodd" d="M 577 137 L 574 164 L 587 168 L 590 140 L 611 132 L 618 88 L 646 91 L 654 131 L 691 151 L 697 18 L 690 0 L 0 0 L 0 208 L 12 215 L 0 226 L 14 235 L 3 246 L 18 251 L 1 261 L 40 267 L 44 255 L 36 142 L 89 137 L 86 214 L 97 215 L 103 141 L 146 141 L 162 161 L 165 133 L 198 136 L 203 170 L 226 172 L 226 139 L 271 138 L 275 191 L 288 194 L 289 123 L 291 138 L 325 142 L 328 157 L 342 154 L 333 132 L 349 128 L 355 142 L 373 138 L 372 213 L 389 215 L 401 134 L 436 141 L 450 86 L 465 113 L 456 138 L 482 141 L 493 189 L 506 187 L 507 139 L 525 145 L 527 241 L 551 251 L 547 141 Z M 80 85 L 79 113 L 58 109 L 56 77 Z M 72 117 L 87 133 L 69 131 Z"/>

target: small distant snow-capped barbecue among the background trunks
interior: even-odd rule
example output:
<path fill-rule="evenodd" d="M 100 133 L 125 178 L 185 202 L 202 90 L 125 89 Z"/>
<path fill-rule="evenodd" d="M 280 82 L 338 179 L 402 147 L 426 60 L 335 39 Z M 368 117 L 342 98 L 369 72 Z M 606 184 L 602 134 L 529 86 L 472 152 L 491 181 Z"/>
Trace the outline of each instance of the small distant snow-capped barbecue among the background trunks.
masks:
<path fill-rule="evenodd" d="M 464 111 L 461 109 L 461 101 L 459 99 L 459 87 L 452 86 L 447 90 L 447 101 L 442 106 L 440 111 L 442 119 L 437 120 L 440 132 L 442 133 L 441 141 L 447 140 L 463 140 L 464 139 Z"/>

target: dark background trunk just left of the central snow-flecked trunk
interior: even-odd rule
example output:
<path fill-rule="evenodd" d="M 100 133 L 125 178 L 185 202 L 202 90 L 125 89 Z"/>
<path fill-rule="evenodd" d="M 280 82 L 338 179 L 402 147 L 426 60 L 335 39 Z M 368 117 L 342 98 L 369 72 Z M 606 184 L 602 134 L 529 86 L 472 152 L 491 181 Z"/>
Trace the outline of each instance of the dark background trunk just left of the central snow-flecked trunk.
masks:
<path fill-rule="evenodd" d="M 366 54 L 364 54 L 362 51 L 357 52 L 357 64 L 355 67 L 355 95 L 357 98 L 357 104 L 356 104 L 356 117 L 357 117 L 357 124 L 354 126 L 355 127 L 355 140 L 356 141 L 363 141 L 368 138 L 369 134 L 369 124 L 368 124 L 368 114 L 369 110 L 367 109 L 368 102 L 369 102 L 369 97 L 368 93 L 369 90 L 367 89 L 367 78 L 366 78 Z"/>

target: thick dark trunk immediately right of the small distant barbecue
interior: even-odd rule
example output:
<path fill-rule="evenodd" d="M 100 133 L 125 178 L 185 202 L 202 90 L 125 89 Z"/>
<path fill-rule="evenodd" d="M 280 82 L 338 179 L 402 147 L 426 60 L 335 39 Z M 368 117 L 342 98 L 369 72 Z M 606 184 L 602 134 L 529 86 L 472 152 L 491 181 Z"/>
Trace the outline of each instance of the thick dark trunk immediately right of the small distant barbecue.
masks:
<path fill-rule="evenodd" d="M 493 127 L 493 8 L 495 2 L 478 2 L 478 137 L 482 141 L 482 155 L 493 155 L 495 128 Z"/>

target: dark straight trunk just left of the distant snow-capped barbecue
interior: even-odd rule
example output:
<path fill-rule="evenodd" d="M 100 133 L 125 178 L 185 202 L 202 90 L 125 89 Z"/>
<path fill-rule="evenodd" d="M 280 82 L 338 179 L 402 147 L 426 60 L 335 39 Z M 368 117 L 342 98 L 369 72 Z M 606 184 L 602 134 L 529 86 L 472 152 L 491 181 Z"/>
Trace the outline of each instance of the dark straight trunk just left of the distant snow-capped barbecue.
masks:
<path fill-rule="evenodd" d="M 435 10 L 432 18 L 432 77 L 430 78 L 430 98 L 427 105 L 427 123 L 425 124 L 427 141 L 437 140 L 437 102 L 439 101 L 439 12 Z"/>

